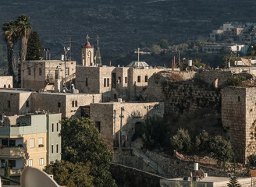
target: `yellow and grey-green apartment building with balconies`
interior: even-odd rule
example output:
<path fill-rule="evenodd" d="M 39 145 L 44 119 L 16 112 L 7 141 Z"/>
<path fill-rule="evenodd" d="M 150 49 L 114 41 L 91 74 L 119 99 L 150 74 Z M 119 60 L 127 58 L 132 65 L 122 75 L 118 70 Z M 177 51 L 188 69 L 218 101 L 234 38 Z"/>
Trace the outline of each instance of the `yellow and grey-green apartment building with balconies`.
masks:
<path fill-rule="evenodd" d="M 5 117 L 0 126 L 0 173 L 9 161 L 10 176 L 20 176 L 29 166 L 43 169 L 61 160 L 61 114 Z M 54 129 L 52 129 L 54 128 Z"/>

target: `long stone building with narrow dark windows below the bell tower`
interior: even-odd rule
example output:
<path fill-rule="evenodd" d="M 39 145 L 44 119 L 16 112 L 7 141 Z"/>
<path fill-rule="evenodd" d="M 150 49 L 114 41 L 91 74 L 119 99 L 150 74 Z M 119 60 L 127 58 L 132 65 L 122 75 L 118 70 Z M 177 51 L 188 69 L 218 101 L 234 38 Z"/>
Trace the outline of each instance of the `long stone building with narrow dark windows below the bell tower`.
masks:
<path fill-rule="evenodd" d="M 76 66 L 76 89 L 86 94 L 102 94 L 102 101 L 136 100 L 157 72 L 171 69 L 150 67 Z"/>

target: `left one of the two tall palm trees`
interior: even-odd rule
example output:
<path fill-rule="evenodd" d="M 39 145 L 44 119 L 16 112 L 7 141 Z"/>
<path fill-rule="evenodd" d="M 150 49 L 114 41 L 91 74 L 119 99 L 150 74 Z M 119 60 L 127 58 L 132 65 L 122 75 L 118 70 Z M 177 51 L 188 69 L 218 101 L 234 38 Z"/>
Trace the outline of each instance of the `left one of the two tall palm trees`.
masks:
<path fill-rule="evenodd" d="M 12 68 L 12 53 L 14 44 L 16 43 L 18 37 L 16 33 L 16 23 L 12 20 L 6 22 L 2 26 L 2 37 L 4 38 L 7 45 L 7 59 L 8 59 L 8 75 L 12 76 L 14 79 L 14 72 Z"/>

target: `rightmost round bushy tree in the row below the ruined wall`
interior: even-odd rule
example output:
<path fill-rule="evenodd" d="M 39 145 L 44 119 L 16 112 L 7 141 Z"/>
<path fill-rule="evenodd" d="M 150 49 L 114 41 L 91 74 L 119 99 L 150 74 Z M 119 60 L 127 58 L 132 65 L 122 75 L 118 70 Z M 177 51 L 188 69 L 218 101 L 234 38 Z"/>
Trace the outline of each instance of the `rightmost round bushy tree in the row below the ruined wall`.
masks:
<path fill-rule="evenodd" d="M 222 139 L 222 136 L 215 136 L 211 140 L 209 147 L 212 156 L 215 157 L 219 163 L 223 163 L 223 168 L 225 169 L 226 162 L 230 161 L 234 155 L 231 143 Z"/>

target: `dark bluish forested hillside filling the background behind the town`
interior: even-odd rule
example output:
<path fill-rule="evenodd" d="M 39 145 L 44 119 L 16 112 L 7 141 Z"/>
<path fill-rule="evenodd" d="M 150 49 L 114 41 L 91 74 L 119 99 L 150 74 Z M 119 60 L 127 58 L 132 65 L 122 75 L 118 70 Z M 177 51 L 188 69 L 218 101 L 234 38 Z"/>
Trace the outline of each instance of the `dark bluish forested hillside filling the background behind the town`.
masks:
<path fill-rule="evenodd" d="M 9 0 L 0 4 L 1 26 L 22 13 L 30 16 L 52 58 L 60 57 L 72 37 L 72 56 L 80 62 L 86 34 L 94 45 L 99 35 L 105 64 L 141 42 L 151 45 L 167 39 L 169 44 L 180 44 L 207 39 L 224 22 L 256 22 L 254 0 Z"/>

